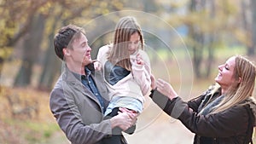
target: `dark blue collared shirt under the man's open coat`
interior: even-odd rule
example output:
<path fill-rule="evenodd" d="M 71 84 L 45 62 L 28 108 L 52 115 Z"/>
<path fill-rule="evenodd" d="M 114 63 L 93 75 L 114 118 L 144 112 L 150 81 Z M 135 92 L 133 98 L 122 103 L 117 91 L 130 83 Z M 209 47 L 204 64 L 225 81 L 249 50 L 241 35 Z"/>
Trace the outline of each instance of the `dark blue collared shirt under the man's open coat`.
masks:
<path fill-rule="evenodd" d="M 105 105 L 104 105 L 102 95 L 99 93 L 99 90 L 97 89 L 96 84 L 95 84 L 93 78 L 91 77 L 90 70 L 85 66 L 84 71 L 85 71 L 86 75 L 79 75 L 78 73 L 74 73 L 74 72 L 73 72 L 73 74 L 76 78 L 81 80 L 82 84 L 84 84 L 84 86 L 87 89 L 90 89 L 90 91 L 93 93 L 93 95 L 96 96 L 98 101 L 100 101 L 102 111 L 105 112 L 106 107 L 104 107 Z"/>

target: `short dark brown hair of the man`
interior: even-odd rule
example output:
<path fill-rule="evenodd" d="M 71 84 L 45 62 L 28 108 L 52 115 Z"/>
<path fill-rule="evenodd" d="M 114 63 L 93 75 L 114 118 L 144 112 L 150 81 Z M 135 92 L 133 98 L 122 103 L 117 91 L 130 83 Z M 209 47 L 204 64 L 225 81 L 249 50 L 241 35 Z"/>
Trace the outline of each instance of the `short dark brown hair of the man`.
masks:
<path fill-rule="evenodd" d="M 64 26 L 55 34 L 55 53 L 61 60 L 64 57 L 63 49 L 73 49 L 73 40 L 79 38 L 81 34 L 85 34 L 84 29 L 74 25 Z"/>

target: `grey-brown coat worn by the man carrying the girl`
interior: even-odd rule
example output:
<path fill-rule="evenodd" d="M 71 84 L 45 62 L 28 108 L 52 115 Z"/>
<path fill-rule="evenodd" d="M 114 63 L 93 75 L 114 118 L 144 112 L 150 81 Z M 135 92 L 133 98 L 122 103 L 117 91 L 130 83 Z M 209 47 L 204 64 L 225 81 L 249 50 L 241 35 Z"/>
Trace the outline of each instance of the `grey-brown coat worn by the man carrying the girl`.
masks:
<path fill-rule="evenodd" d="M 108 105 L 108 89 L 102 74 L 94 72 L 93 66 L 88 67 Z M 99 101 L 66 65 L 62 66 L 61 76 L 50 93 L 49 107 L 61 130 L 73 144 L 98 144 L 112 133 L 110 120 L 103 120 Z"/>

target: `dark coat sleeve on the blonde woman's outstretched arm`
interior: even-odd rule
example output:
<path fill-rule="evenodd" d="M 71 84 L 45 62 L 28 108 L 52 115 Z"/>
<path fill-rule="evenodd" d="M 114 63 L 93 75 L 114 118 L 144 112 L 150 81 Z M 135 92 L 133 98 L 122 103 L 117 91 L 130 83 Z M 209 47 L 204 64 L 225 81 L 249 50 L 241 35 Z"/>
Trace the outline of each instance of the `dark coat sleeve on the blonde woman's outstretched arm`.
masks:
<path fill-rule="evenodd" d="M 198 115 L 189 108 L 181 98 L 163 100 L 166 97 L 160 93 L 153 95 L 153 101 L 163 107 L 164 112 L 179 119 L 191 132 L 207 137 L 230 137 L 245 134 L 248 124 L 246 107 L 231 107 L 224 112 Z M 164 106 L 163 106 L 164 105 Z"/>

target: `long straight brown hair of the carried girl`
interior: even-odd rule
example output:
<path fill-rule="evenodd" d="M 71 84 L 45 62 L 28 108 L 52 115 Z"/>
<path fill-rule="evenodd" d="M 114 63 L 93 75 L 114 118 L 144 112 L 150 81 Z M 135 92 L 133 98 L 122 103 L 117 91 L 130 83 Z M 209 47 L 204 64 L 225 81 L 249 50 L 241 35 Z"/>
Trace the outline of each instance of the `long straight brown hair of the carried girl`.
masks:
<path fill-rule="evenodd" d="M 108 52 L 108 60 L 111 63 L 131 71 L 128 44 L 131 35 L 136 32 L 140 37 L 139 49 L 143 49 L 143 32 L 138 25 L 137 20 L 131 16 L 125 16 L 119 20 L 119 23 L 115 27 L 113 47 Z"/>

